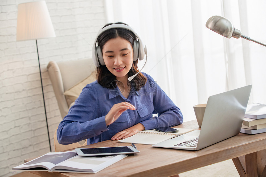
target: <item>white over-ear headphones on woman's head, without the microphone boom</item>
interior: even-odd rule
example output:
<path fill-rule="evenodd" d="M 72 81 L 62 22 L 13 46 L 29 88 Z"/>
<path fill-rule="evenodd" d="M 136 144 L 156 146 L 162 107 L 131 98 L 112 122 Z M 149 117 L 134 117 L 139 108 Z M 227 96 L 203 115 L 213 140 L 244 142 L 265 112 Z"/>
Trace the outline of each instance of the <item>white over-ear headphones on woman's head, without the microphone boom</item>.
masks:
<path fill-rule="evenodd" d="M 137 35 L 137 33 L 134 31 L 133 28 L 131 28 L 130 26 L 125 25 L 125 24 L 111 24 L 111 25 L 108 25 L 108 26 L 102 28 L 98 32 L 98 34 L 95 38 L 95 41 L 93 43 L 93 47 L 94 47 L 93 49 L 94 50 L 92 50 L 92 59 L 93 59 L 94 64 L 97 67 L 99 67 L 100 65 L 105 65 L 101 48 L 100 48 L 100 46 L 96 46 L 97 38 L 101 33 L 105 32 L 106 30 L 109 30 L 111 28 L 124 28 L 124 29 L 127 29 L 127 30 L 133 32 L 137 36 L 138 40 L 134 41 L 134 45 L 133 45 L 133 61 L 136 61 L 137 59 L 143 60 L 143 58 L 145 57 L 144 53 L 146 53 L 146 57 L 147 57 L 146 46 L 143 45 L 140 37 Z M 146 62 L 145 62 L 145 64 L 146 64 Z"/>

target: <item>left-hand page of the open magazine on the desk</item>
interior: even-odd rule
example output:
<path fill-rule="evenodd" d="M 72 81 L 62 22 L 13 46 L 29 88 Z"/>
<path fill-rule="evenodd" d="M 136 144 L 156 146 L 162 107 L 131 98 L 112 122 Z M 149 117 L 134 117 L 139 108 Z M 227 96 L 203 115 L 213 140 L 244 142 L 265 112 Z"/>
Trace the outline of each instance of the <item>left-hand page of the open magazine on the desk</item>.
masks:
<path fill-rule="evenodd" d="M 65 161 L 77 155 L 78 154 L 76 153 L 75 150 L 67 152 L 58 152 L 58 153 L 49 152 L 45 155 L 42 155 L 39 158 L 35 158 L 22 165 L 16 166 L 12 168 L 12 170 L 27 170 L 27 169 L 40 168 L 40 167 L 50 170 L 60 162 Z"/>

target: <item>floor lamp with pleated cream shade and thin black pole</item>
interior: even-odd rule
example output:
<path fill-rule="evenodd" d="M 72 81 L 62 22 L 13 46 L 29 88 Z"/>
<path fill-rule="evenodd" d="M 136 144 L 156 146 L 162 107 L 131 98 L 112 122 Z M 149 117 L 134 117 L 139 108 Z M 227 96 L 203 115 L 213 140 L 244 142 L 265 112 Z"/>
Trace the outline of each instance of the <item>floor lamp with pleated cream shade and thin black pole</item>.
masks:
<path fill-rule="evenodd" d="M 50 37 L 55 37 L 55 32 L 45 1 L 19 4 L 18 19 L 17 19 L 17 41 L 36 40 L 40 78 L 41 78 L 41 66 L 39 60 L 37 39 L 50 38 Z M 45 108 L 42 78 L 41 78 L 41 89 L 42 89 L 50 152 L 52 152 L 46 108 Z"/>

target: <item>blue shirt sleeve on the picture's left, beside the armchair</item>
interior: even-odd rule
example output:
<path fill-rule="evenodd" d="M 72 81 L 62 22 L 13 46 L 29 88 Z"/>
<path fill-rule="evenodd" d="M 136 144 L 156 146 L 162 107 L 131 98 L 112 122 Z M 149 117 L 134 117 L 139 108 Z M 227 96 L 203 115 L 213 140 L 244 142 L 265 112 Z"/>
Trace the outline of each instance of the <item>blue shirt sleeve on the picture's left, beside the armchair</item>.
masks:
<path fill-rule="evenodd" d="M 83 88 L 57 129 L 60 144 L 71 144 L 107 131 L 105 116 L 97 117 L 97 91 L 93 85 Z"/>

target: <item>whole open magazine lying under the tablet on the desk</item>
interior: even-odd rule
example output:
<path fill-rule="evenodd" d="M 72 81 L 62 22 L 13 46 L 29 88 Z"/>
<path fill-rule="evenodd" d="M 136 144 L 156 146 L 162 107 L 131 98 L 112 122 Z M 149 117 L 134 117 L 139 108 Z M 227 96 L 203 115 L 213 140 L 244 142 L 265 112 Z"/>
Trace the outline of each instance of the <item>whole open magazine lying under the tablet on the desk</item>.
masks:
<path fill-rule="evenodd" d="M 75 150 L 49 152 L 39 158 L 12 168 L 11 171 L 55 171 L 71 173 L 97 173 L 107 166 L 127 157 L 125 154 L 110 156 L 78 156 Z"/>

